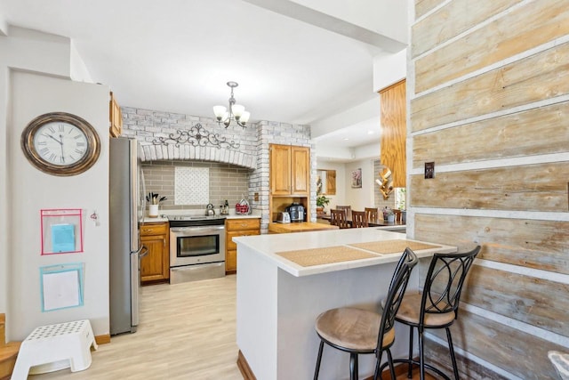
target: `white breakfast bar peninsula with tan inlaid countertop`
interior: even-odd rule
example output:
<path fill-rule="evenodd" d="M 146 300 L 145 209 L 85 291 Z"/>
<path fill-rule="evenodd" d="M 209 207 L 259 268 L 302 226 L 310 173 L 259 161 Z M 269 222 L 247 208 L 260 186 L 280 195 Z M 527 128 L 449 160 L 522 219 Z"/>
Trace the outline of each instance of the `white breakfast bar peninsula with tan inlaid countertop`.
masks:
<path fill-rule="evenodd" d="M 456 247 L 409 240 L 378 228 L 260 235 L 237 245 L 237 364 L 245 378 L 310 379 L 319 339 L 318 314 L 341 306 L 378 310 L 405 247 L 419 258 Z M 408 289 L 419 287 L 414 271 Z M 404 357 L 408 330 L 396 327 L 394 357 Z M 373 355 L 360 355 L 362 378 Z M 349 354 L 326 349 L 320 378 L 347 378 Z"/>

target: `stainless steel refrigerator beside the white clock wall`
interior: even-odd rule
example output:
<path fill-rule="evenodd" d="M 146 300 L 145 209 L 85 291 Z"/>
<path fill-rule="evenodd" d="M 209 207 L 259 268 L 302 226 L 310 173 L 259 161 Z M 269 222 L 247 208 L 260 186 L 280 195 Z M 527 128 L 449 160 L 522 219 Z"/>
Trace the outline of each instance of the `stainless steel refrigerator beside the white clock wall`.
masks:
<path fill-rule="evenodd" d="M 110 139 L 109 297 L 110 334 L 133 333 L 139 324 L 139 221 L 144 210 L 144 178 L 133 139 Z"/>

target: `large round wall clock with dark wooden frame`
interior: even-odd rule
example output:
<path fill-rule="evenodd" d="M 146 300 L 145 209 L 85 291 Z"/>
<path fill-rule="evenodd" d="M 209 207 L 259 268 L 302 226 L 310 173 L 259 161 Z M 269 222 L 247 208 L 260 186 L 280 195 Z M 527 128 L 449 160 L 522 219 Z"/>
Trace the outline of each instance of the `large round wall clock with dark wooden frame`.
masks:
<path fill-rule="evenodd" d="M 53 175 L 81 174 L 100 154 L 95 128 L 84 118 L 65 112 L 47 113 L 30 121 L 20 144 L 33 166 Z"/>

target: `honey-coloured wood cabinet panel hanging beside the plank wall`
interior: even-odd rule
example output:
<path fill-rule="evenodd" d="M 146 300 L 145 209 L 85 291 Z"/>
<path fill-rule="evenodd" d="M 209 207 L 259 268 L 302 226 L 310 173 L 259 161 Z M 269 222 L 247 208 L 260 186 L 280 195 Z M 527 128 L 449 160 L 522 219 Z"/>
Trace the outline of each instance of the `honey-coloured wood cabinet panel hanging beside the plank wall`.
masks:
<path fill-rule="evenodd" d="M 405 79 L 380 91 L 381 164 L 391 170 L 393 187 L 405 188 L 406 98 Z"/>

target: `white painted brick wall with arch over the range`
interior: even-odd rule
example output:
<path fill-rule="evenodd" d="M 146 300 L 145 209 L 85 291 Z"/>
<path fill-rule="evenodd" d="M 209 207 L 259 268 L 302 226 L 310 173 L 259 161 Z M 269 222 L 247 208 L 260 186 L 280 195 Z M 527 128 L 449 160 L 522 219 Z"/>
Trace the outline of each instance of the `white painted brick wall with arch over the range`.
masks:
<path fill-rule="evenodd" d="M 310 139 L 309 125 L 292 125 L 273 121 L 260 121 L 258 124 L 248 125 L 245 129 L 237 125 L 230 125 L 227 129 L 220 126 L 210 117 L 196 117 L 191 115 L 162 112 L 151 109 L 135 109 L 122 107 L 123 134 L 132 136 L 143 145 L 140 158 L 143 161 L 181 161 L 180 165 L 188 161 L 212 162 L 230 164 L 249 168 L 248 199 L 252 207 L 261 212 L 261 232 L 268 230 L 268 144 L 298 145 L 310 148 L 312 179 L 316 178 L 316 150 Z M 204 126 L 210 133 L 219 133 L 227 141 L 236 141 L 239 148 L 236 150 L 225 148 L 194 147 L 190 144 L 155 145 L 157 137 L 167 138 L 170 133 L 176 134 L 178 130 L 189 130 L 197 123 Z M 156 165 L 149 163 L 148 165 Z M 316 180 L 314 180 L 316 181 Z M 311 189 L 316 189 L 312 183 Z M 259 194 L 259 201 L 255 202 L 254 194 Z M 211 194 L 211 198 L 219 198 L 220 194 Z M 235 197 L 235 195 L 233 195 Z M 231 202 L 230 202 L 231 203 Z M 312 222 L 316 222 L 316 192 L 310 194 L 310 214 Z"/>

